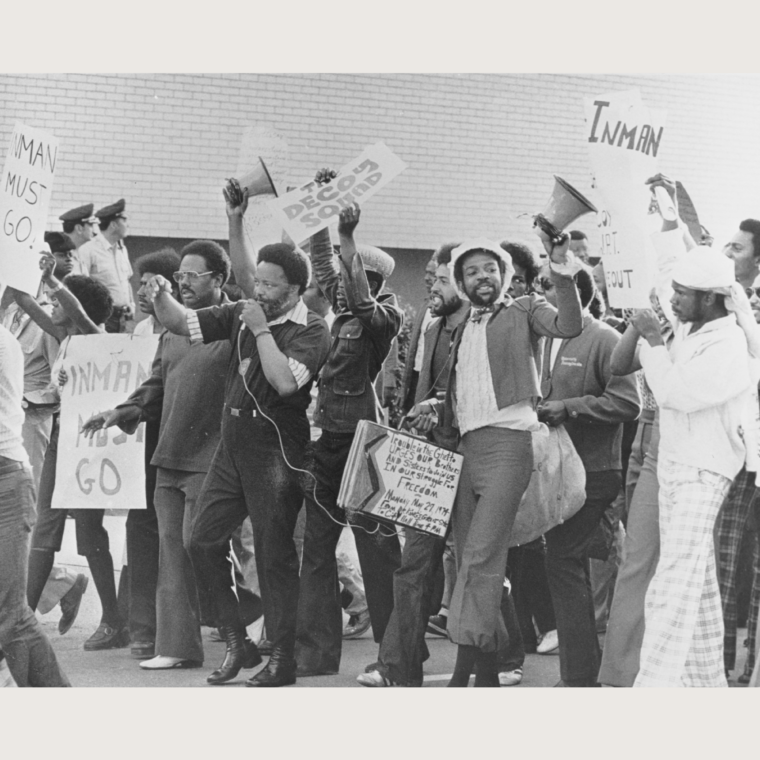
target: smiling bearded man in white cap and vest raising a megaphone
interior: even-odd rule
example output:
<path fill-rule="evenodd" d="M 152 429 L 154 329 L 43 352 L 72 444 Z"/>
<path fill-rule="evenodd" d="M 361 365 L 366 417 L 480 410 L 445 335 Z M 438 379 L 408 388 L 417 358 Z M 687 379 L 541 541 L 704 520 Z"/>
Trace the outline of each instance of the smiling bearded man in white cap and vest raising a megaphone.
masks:
<path fill-rule="evenodd" d="M 452 516 L 458 572 L 447 632 L 458 651 L 449 686 L 467 686 L 473 670 L 475 686 L 499 686 L 497 653 L 508 642 L 500 611 L 504 568 L 533 469 L 543 338 L 574 338 L 583 326 L 567 236 L 554 248 L 542 238 L 552 258 L 556 309 L 537 295 L 505 299 L 514 267 L 496 243 L 470 240 L 451 255 L 454 281 L 472 309 L 452 339 L 443 409 L 443 424 L 459 428 L 464 455 Z M 409 416 L 428 430 L 439 424 L 438 411 L 427 400 Z"/>

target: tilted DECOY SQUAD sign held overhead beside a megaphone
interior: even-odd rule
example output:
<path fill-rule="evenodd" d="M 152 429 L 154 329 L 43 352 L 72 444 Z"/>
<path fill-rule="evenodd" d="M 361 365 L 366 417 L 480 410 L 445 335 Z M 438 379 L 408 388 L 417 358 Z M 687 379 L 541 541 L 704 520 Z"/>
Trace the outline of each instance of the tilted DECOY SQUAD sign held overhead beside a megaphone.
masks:
<path fill-rule="evenodd" d="M 371 198 L 404 169 L 406 164 L 385 143 L 377 143 L 346 164 L 331 182 L 307 182 L 268 201 L 269 208 L 288 235 L 301 243 L 337 221 L 341 209 Z"/>

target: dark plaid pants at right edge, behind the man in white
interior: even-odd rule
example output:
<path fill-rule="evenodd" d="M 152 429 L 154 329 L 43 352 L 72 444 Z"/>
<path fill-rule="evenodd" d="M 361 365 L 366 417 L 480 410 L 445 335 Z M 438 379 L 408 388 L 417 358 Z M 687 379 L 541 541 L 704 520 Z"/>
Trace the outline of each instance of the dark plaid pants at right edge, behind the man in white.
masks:
<path fill-rule="evenodd" d="M 726 632 L 723 637 L 723 662 L 725 669 L 731 671 L 736 666 L 736 569 L 739 562 L 739 547 L 747 529 L 750 509 L 754 503 L 760 518 L 760 499 L 755 499 L 755 473 L 742 468 L 731 484 L 718 518 L 718 582 L 720 597 L 723 602 L 723 624 Z M 757 561 L 755 561 L 755 578 L 753 587 L 760 580 L 757 578 Z M 750 606 L 750 619 L 747 623 L 750 638 L 750 656 L 754 661 L 754 643 L 757 631 L 757 605 L 760 597 L 754 593 Z M 749 663 L 748 663 L 749 664 Z"/>

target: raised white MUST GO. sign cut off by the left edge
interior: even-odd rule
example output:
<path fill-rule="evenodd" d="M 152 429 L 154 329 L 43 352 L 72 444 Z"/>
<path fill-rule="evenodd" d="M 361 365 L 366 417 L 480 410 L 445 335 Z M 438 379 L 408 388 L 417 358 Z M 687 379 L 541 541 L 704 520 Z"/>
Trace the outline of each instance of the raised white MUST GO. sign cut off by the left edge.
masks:
<path fill-rule="evenodd" d="M 58 140 L 16 124 L 0 180 L 0 282 L 26 293 L 40 284 L 43 240 L 58 161 Z"/>

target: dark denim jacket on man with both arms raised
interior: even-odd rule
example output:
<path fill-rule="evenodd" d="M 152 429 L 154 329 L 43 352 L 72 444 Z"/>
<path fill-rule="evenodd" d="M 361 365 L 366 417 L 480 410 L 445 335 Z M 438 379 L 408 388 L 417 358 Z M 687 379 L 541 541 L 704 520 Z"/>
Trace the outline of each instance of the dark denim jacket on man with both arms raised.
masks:
<path fill-rule="evenodd" d="M 319 378 L 314 424 L 334 433 L 353 433 L 360 420 L 377 421 L 373 383 L 404 319 L 392 293 L 373 298 L 361 256 L 351 271 L 338 259 L 335 268 L 327 230 L 312 238 L 311 261 L 317 283 L 335 311 L 332 344 Z M 343 281 L 347 308 L 338 305 Z"/>

